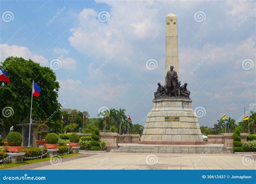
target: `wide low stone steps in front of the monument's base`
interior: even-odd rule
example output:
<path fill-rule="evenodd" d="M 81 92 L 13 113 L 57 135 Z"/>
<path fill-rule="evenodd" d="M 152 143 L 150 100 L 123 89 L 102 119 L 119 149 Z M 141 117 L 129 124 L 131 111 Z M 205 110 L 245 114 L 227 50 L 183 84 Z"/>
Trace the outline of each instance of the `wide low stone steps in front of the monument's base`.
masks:
<path fill-rule="evenodd" d="M 230 154 L 221 146 L 118 146 L 115 153 Z"/>

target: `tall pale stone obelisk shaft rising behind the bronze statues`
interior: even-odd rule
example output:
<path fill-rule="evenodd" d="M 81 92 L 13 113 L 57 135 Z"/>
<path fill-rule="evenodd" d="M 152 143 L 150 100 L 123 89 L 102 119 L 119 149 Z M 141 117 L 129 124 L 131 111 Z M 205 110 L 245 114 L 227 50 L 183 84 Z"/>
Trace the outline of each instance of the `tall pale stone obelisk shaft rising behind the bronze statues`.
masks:
<path fill-rule="evenodd" d="M 165 26 L 165 75 L 173 66 L 179 76 L 177 16 L 167 15 Z"/>

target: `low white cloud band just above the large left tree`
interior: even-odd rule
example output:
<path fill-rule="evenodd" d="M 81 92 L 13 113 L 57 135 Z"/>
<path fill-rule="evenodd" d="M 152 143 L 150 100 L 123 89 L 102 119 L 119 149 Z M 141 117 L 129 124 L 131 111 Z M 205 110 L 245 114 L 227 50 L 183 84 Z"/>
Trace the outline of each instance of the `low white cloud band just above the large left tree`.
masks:
<path fill-rule="evenodd" d="M 0 44 L 0 50 L 1 61 L 4 61 L 8 56 L 17 56 L 26 60 L 31 59 L 32 61 L 40 63 L 42 66 L 49 66 L 49 62 L 46 58 L 44 58 L 44 56 L 32 53 L 27 47 Z"/>

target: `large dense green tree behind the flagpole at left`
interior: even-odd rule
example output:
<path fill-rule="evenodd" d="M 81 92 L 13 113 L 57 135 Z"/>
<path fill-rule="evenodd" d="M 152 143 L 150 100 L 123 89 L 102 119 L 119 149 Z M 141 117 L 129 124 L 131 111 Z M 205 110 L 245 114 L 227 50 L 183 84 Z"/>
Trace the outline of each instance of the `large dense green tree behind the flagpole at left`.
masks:
<path fill-rule="evenodd" d="M 61 105 L 57 100 L 59 83 L 49 67 L 42 67 L 32 60 L 9 57 L 0 68 L 8 73 L 10 79 L 9 85 L 5 83 L 0 86 L 0 110 L 5 107 L 13 109 L 12 116 L 0 116 L 5 128 L 29 123 L 32 80 L 41 87 L 41 95 L 33 98 L 32 118 L 57 121 L 61 117 Z"/>

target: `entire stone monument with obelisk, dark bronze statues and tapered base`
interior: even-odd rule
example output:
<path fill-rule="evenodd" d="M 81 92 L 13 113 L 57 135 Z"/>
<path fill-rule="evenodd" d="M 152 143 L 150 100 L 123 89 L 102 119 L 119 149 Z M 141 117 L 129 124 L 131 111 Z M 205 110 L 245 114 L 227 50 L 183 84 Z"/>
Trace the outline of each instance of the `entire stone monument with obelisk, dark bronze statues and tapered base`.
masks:
<path fill-rule="evenodd" d="M 166 16 L 165 86 L 158 83 L 139 144 L 203 145 L 187 83 L 179 81 L 177 16 Z"/>

